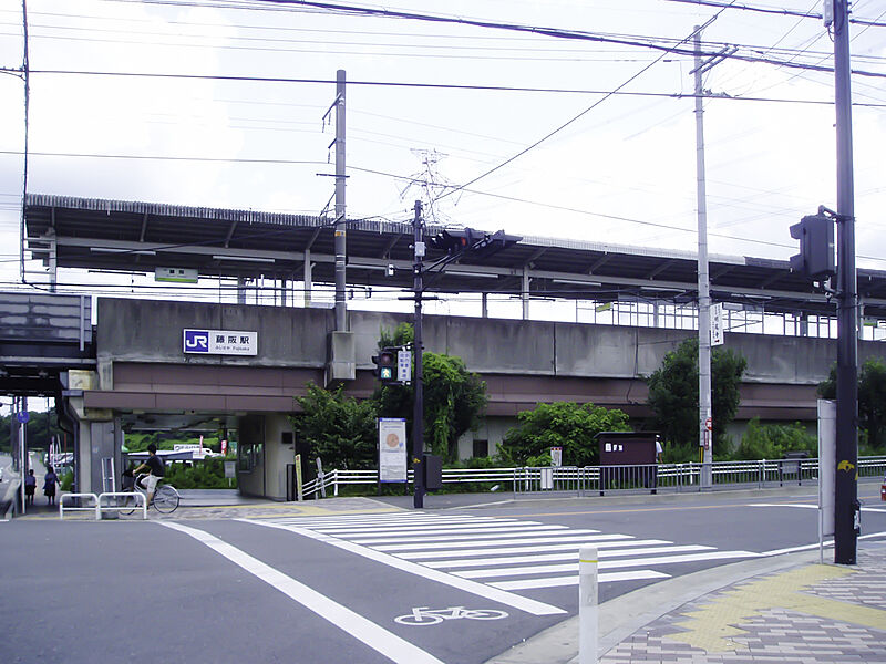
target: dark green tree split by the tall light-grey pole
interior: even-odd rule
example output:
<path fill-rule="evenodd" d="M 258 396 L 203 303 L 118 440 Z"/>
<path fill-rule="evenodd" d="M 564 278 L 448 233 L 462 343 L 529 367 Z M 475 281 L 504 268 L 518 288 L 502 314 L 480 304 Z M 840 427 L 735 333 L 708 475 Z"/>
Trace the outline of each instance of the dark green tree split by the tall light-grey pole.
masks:
<path fill-rule="evenodd" d="M 731 349 L 711 353 L 711 409 L 714 450 L 727 446 L 725 432 L 741 401 L 741 376 L 748 361 Z M 656 413 L 656 427 L 664 440 L 678 447 L 698 444 L 699 341 L 688 339 L 664 355 L 661 366 L 647 380 L 648 403 Z M 667 446 L 666 446 L 667 449 Z"/>

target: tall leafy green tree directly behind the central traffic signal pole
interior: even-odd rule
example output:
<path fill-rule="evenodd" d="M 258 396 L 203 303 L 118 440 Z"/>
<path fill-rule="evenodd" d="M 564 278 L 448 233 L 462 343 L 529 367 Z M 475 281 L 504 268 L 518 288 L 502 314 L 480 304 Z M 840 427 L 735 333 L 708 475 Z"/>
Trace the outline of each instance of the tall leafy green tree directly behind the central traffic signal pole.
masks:
<path fill-rule="evenodd" d="M 400 323 L 393 333 L 382 330 L 379 349 L 405 345 L 414 339 L 412 325 Z M 414 369 L 413 369 L 414 371 Z M 480 424 L 486 411 L 486 383 L 467 371 L 461 357 L 442 353 L 423 353 L 424 432 L 431 452 L 447 464 L 459 457 L 459 438 Z M 413 388 L 384 385 L 375 393 L 379 414 L 403 417 L 412 432 Z"/>

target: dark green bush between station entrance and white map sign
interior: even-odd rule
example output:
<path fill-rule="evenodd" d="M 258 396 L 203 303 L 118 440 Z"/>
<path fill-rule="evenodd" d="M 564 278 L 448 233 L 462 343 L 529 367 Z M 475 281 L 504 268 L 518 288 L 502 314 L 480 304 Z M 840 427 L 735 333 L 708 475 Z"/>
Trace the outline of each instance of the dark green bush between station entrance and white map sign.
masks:
<path fill-rule="evenodd" d="M 315 384 L 299 397 L 300 415 L 292 417 L 297 435 L 328 468 L 361 469 L 377 465 L 377 404 L 346 396 L 342 386 L 329 391 Z"/>

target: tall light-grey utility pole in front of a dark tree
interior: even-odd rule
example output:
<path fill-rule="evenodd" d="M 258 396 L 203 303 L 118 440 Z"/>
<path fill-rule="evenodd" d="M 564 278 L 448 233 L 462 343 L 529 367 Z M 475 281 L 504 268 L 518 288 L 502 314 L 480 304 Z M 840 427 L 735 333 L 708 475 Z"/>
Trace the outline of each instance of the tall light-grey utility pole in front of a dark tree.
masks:
<path fill-rule="evenodd" d="M 708 277 L 708 203 L 704 183 L 704 123 L 701 86 L 701 27 L 696 25 L 696 196 L 699 227 L 699 446 L 702 453 L 701 488 L 712 484 L 713 432 L 708 430 L 711 417 L 711 294 Z"/>

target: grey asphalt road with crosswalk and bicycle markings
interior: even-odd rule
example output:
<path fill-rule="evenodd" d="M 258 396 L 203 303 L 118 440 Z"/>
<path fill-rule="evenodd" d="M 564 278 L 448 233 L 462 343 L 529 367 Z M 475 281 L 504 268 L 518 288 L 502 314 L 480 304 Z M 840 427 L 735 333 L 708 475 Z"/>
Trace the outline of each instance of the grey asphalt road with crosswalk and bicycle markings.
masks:
<path fill-rule="evenodd" d="M 878 491 L 859 488 L 863 529 L 886 538 Z M 817 512 L 803 506 L 815 500 L 713 494 L 256 521 L 13 520 L 0 523 L 0 661 L 478 664 L 575 614 L 584 541 L 599 547 L 605 601 L 814 546 Z M 433 624 L 402 618 L 423 606 L 450 611 Z"/>

